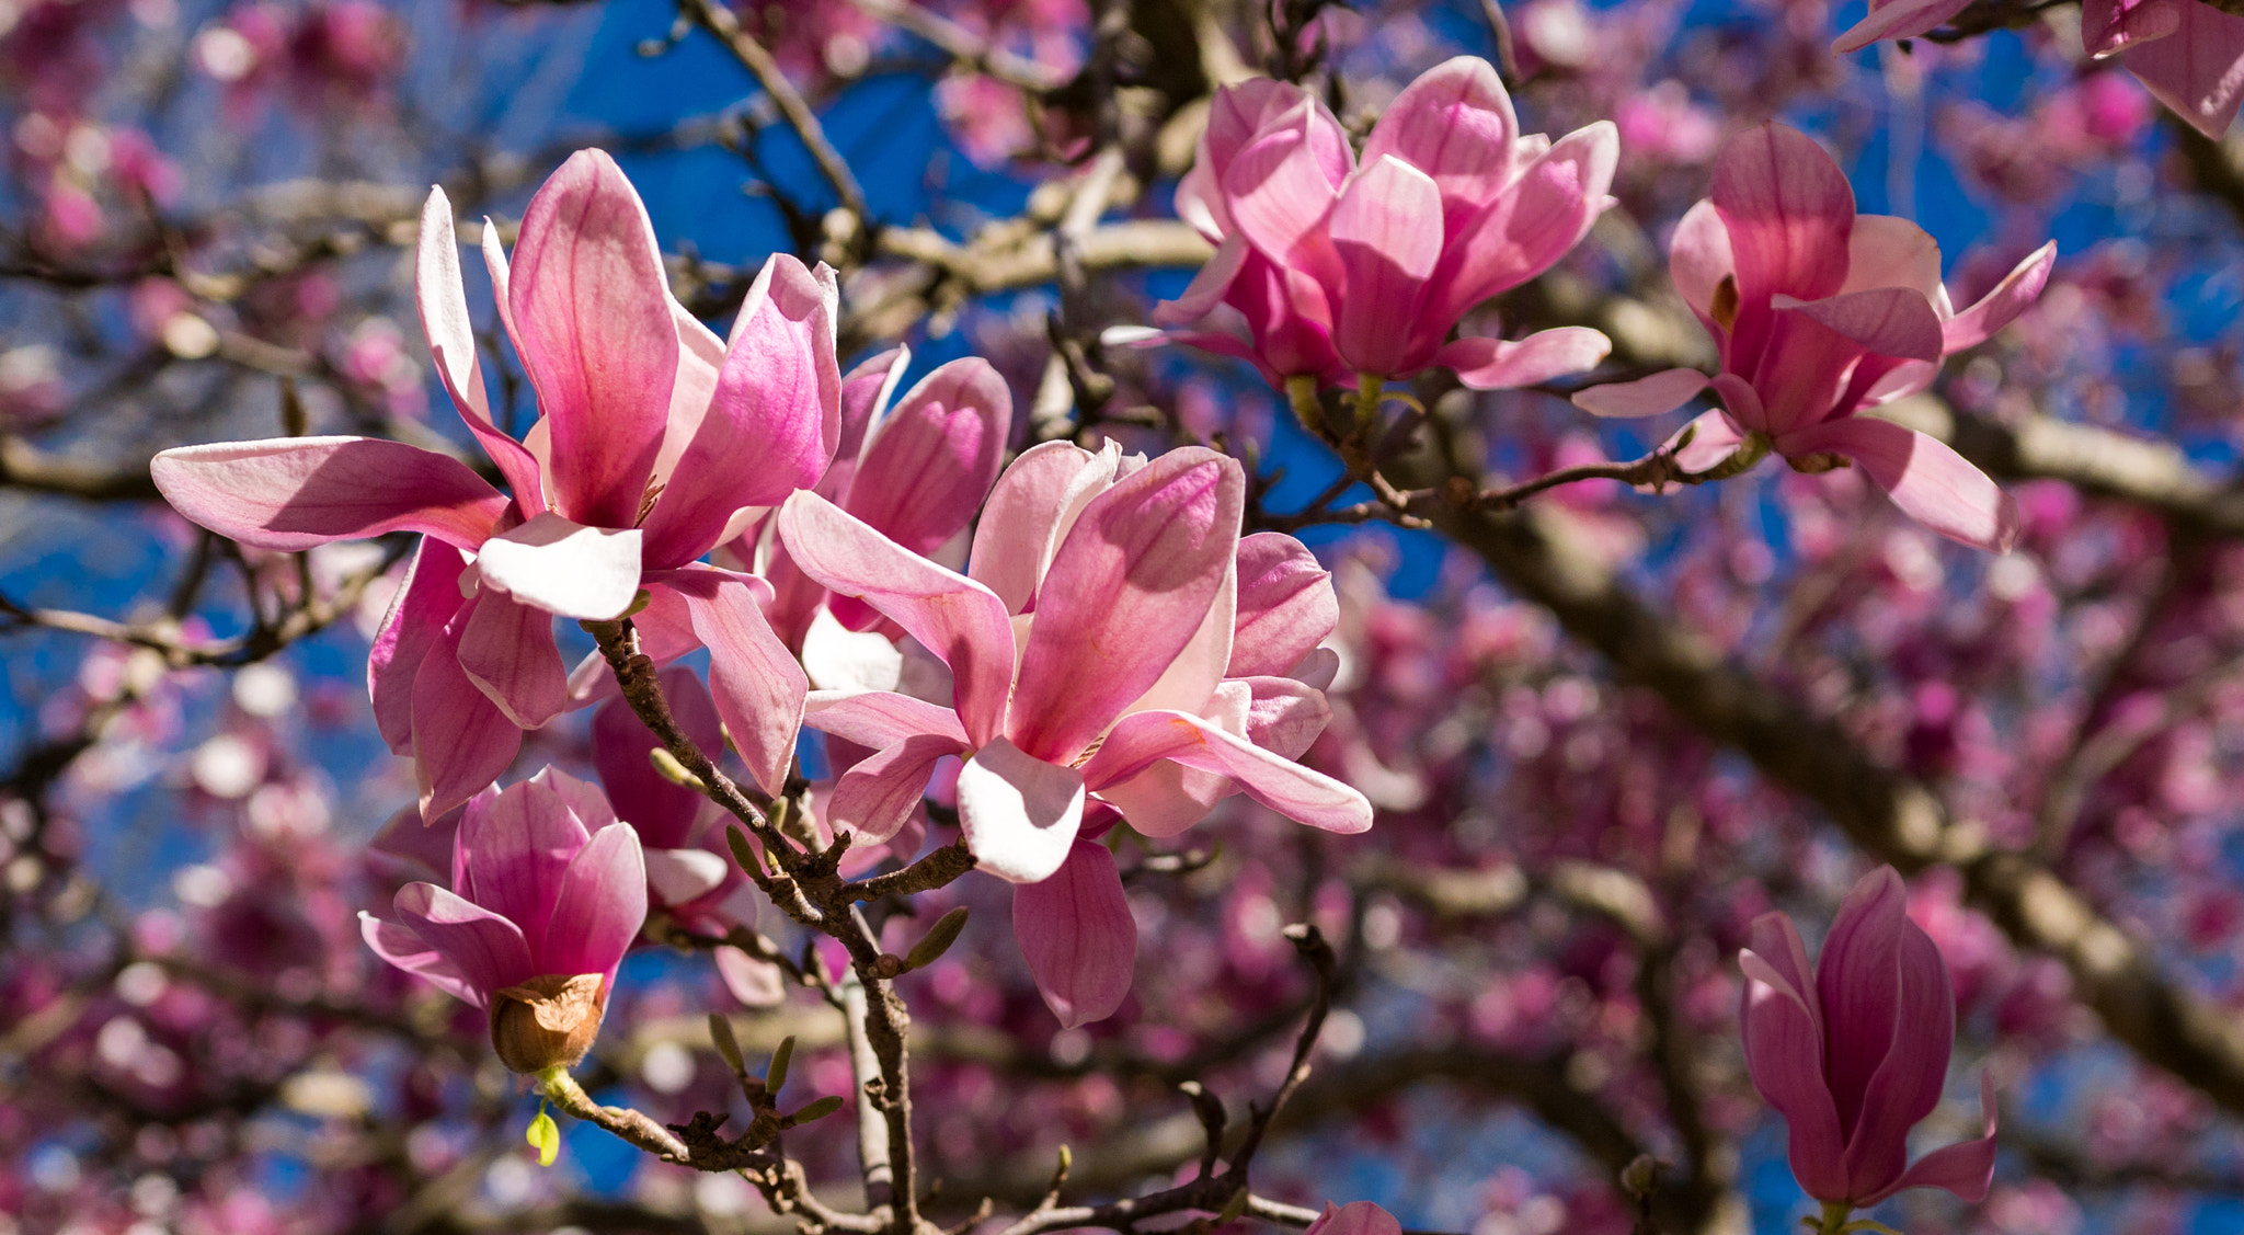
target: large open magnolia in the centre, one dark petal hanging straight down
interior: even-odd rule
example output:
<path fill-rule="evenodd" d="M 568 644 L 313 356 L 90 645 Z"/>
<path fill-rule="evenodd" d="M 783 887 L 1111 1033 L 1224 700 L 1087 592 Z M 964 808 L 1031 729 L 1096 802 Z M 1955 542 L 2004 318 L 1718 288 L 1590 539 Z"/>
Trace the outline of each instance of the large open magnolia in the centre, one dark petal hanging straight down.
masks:
<path fill-rule="evenodd" d="M 1310 826 L 1371 826 L 1360 793 L 1293 761 L 1328 719 L 1331 582 L 1290 537 L 1241 541 L 1243 503 L 1245 474 L 1207 449 L 1133 465 L 1048 442 L 990 492 L 969 575 L 817 494 L 779 514 L 806 575 L 862 597 L 951 676 L 949 707 L 810 696 L 808 725 L 875 750 L 842 775 L 833 824 L 886 840 L 936 761 L 963 757 L 967 847 L 1028 885 L 1023 950 L 1068 1024 L 1129 990 L 1135 927 L 1113 856 L 1091 842 L 1115 815 L 1174 835 L 1245 793 Z"/>

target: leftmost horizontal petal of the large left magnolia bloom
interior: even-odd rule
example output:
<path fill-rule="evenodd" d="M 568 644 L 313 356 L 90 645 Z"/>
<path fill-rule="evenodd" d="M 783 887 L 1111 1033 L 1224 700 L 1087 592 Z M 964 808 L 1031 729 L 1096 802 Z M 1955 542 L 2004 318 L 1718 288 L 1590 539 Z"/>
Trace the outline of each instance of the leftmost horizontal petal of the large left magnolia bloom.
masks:
<path fill-rule="evenodd" d="M 191 523 L 283 552 L 384 532 L 476 548 L 507 510 L 465 463 L 381 438 L 173 447 L 148 472 Z"/>

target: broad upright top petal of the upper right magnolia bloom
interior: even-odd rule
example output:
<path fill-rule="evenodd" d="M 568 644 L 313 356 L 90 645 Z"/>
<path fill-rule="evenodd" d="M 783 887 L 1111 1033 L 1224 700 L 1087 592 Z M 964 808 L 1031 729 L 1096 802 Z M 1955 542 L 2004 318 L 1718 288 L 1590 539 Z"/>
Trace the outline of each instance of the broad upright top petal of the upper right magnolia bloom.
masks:
<path fill-rule="evenodd" d="M 1809 135 L 1764 124 L 1730 139 L 1714 164 L 1714 209 L 1737 256 L 1737 292 L 1820 301 L 1847 283 L 1854 186 Z"/>

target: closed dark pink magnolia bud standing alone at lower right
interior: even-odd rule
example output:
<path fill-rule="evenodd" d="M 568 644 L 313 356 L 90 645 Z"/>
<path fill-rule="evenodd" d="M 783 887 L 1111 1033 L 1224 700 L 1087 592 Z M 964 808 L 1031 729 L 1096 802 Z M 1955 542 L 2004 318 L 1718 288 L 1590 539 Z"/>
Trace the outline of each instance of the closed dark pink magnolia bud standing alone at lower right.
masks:
<path fill-rule="evenodd" d="M 1746 1071 L 1791 1129 L 1800 1188 L 1854 1208 L 1903 1188 L 1946 1188 L 1966 1201 L 1986 1195 L 1995 1174 L 1995 1082 L 1986 1076 L 1986 1136 L 1910 1165 L 1910 1127 L 1932 1114 L 1948 1080 L 1957 1006 L 1948 963 L 1910 921 L 1907 887 L 1892 867 L 1847 894 L 1813 975 L 1784 914 L 1753 921 L 1739 966 Z"/>

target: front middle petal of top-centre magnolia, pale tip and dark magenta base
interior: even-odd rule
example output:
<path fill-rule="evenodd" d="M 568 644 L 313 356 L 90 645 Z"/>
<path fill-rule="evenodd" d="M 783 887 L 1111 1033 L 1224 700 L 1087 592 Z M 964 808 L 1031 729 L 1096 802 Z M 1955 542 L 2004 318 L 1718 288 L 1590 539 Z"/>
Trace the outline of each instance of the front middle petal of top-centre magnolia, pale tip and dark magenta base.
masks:
<path fill-rule="evenodd" d="M 1328 234 L 1346 281 L 1333 346 L 1358 373 L 1409 373 L 1418 301 L 1441 260 L 1441 189 L 1394 155 L 1367 162 L 1333 204 Z"/>

